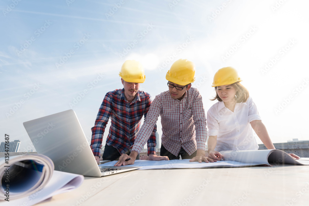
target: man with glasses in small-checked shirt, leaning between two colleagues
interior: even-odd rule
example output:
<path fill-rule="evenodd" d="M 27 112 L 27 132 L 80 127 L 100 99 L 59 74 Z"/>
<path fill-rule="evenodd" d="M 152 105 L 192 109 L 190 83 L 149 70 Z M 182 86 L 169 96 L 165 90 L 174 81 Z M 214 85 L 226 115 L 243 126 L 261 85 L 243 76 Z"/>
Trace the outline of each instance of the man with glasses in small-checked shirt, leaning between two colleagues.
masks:
<path fill-rule="evenodd" d="M 206 117 L 199 91 L 191 87 L 195 65 L 186 59 L 174 62 L 166 74 L 169 90 L 157 95 L 138 132 L 130 155 L 121 155 L 115 166 L 134 164 L 159 115 L 162 124 L 160 155 L 169 159 L 190 159 L 190 162 L 216 162 L 205 157 Z M 131 158 L 128 161 L 126 159 Z"/>

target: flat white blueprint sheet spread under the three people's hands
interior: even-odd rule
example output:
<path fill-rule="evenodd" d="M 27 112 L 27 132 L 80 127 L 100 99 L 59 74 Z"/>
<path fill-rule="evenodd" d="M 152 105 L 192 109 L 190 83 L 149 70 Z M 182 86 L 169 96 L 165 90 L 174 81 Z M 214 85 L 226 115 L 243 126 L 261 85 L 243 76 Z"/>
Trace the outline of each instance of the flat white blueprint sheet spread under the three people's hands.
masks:
<path fill-rule="evenodd" d="M 117 161 L 105 163 L 104 166 L 114 166 Z M 142 167 L 139 170 L 155 170 L 155 169 L 189 169 L 189 168 L 205 168 L 205 167 L 246 167 L 253 165 L 261 165 L 256 163 L 240 163 L 236 161 L 217 161 L 214 163 L 198 163 L 189 162 L 189 159 L 175 159 L 175 160 L 161 160 L 161 161 L 150 161 L 150 160 L 135 160 L 134 165 Z M 263 165 L 263 164 L 262 164 Z M 124 166 L 126 167 L 126 166 Z"/>

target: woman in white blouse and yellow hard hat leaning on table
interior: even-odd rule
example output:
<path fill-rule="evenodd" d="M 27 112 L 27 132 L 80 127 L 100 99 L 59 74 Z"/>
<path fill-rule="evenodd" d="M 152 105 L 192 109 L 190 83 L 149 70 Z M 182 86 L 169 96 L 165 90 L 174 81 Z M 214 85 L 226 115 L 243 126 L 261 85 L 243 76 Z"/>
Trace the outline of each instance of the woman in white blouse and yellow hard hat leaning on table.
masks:
<path fill-rule="evenodd" d="M 208 156 L 220 160 L 223 150 L 257 150 L 259 148 L 253 130 L 267 149 L 275 149 L 265 125 L 249 96 L 248 90 L 232 67 L 221 68 L 214 75 L 218 100 L 207 112 Z M 290 154 L 294 158 L 297 155 Z"/>

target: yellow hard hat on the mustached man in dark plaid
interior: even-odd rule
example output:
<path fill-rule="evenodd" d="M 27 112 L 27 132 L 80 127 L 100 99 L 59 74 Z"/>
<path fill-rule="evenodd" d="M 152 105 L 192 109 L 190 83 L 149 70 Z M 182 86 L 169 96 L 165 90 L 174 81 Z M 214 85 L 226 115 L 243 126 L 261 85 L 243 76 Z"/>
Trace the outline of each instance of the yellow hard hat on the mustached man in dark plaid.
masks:
<path fill-rule="evenodd" d="M 135 60 L 126 60 L 122 64 L 119 76 L 126 82 L 143 83 L 146 79 L 142 64 Z"/>

